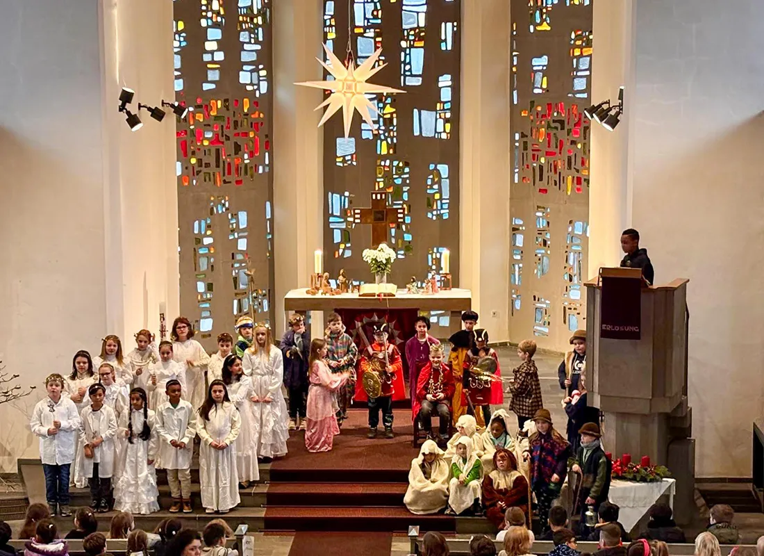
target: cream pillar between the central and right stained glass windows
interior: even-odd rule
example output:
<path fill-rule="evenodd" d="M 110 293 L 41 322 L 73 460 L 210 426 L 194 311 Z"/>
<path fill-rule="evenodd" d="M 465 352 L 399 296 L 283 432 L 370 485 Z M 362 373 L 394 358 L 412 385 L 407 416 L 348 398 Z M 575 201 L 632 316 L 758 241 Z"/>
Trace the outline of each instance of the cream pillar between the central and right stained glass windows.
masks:
<path fill-rule="evenodd" d="M 479 327 L 509 340 L 510 3 L 462 2 L 461 287 Z"/>

